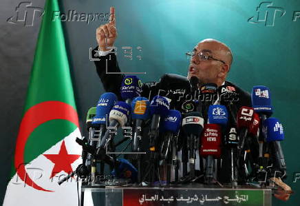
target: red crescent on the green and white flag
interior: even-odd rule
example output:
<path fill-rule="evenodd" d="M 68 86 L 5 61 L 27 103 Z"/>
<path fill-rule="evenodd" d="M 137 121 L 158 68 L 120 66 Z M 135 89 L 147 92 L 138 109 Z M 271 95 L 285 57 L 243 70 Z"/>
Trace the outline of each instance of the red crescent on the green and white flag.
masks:
<path fill-rule="evenodd" d="M 24 114 L 19 128 L 19 134 L 16 143 L 16 152 L 14 154 L 14 167 L 17 169 L 17 174 L 25 184 L 35 189 L 43 190 L 45 192 L 53 192 L 44 189 L 32 181 L 28 176 L 24 165 L 24 150 L 25 145 L 30 134 L 39 127 L 39 125 L 54 119 L 64 119 L 74 123 L 77 127 L 78 114 L 74 107 L 63 103 L 61 101 L 45 101 L 36 104 Z"/>

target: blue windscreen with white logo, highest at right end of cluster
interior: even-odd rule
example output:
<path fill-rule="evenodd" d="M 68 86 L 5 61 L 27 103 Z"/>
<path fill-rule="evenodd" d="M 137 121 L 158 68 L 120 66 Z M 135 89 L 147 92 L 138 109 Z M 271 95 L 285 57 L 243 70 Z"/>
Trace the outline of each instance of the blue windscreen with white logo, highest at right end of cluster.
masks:
<path fill-rule="evenodd" d="M 252 90 L 252 106 L 257 113 L 272 115 L 271 94 L 266 86 L 254 86 Z"/>

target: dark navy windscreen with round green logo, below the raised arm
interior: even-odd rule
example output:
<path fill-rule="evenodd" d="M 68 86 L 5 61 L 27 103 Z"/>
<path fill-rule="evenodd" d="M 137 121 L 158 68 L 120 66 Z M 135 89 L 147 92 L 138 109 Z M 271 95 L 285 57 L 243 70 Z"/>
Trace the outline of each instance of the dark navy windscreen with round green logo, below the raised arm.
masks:
<path fill-rule="evenodd" d="M 140 96 L 142 81 L 137 76 L 125 76 L 121 83 L 120 94 L 123 100 L 133 99 Z"/>

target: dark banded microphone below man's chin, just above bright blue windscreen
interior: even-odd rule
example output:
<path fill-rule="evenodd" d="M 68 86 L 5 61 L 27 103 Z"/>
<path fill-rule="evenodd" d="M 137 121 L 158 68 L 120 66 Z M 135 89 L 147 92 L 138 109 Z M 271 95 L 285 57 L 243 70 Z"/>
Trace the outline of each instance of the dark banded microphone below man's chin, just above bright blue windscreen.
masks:
<path fill-rule="evenodd" d="M 207 112 L 209 105 L 213 105 L 217 100 L 217 85 L 215 83 L 206 83 L 200 88 L 202 94 L 202 115 L 205 123 L 207 122 Z"/>

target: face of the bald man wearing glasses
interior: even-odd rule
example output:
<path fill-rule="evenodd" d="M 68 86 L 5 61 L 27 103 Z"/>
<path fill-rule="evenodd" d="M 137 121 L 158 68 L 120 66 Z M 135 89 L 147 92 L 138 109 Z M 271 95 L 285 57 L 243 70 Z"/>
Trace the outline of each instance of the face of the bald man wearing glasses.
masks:
<path fill-rule="evenodd" d="M 195 46 L 193 52 L 195 52 L 195 54 L 202 52 L 219 60 L 223 60 L 222 57 L 224 54 L 222 45 L 215 41 L 200 42 Z M 197 58 L 197 55 L 195 55 L 191 58 L 187 78 L 190 79 L 191 76 L 197 76 L 201 83 L 217 83 L 222 65 L 222 62 L 212 59 L 201 61 Z"/>

